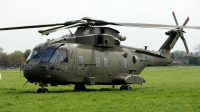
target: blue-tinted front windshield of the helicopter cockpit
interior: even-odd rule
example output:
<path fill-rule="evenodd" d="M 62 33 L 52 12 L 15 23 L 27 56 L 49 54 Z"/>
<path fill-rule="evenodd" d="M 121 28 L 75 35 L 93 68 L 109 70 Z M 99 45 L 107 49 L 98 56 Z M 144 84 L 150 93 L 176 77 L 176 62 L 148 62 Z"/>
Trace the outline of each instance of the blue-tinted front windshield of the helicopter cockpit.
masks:
<path fill-rule="evenodd" d="M 41 61 L 49 61 L 50 57 L 54 53 L 55 49 L 39 49 L 33 50 L 27 60 L 29 59 L 38 59 Z M 26 61 L 27 61 L 26 60 Z"/>

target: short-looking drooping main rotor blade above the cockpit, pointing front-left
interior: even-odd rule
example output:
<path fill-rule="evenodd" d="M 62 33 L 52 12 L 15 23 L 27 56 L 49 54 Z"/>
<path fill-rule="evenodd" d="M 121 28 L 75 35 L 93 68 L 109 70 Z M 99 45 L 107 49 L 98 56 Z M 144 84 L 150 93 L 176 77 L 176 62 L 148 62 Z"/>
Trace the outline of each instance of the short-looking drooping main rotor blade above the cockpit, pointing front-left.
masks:
<path fill-rule="evenodd" d="M 47 30 L 39 30 L 38 32 L 41 33 L 42 35 L 49 35 L 50 33 L 59 31 L 59 30 L 63 30 L 66 28 L 72 28 L 72 27 L 76 27 L 76 26 L 81 26 L 81 25 L 85 25 L 85 23 L 76 23 L 76 24 L 72 24 L 69 26 L 59 26 L 59 27 L 55 27 L 55 28 L 51 28 L 51 29 L 47 29 Z"/>

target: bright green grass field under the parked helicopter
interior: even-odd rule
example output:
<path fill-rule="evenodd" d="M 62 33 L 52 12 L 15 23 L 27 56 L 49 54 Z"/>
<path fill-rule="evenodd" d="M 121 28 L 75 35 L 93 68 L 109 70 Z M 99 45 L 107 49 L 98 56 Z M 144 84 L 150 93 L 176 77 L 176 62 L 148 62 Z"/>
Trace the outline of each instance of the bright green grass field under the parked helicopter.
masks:
<path fill-rule="evenodd" d="M 37 94 L 34 84 L 23 84 L 19 70 L 0 70 L 0 112 L 198 112 L 200 111 L 200 67 L 149 67 L 140 76 L 141 85 L 133 91 L 120 86 L 87 86 L 85 92 L 74 86 L 48 89 Z M 21 76 L 23 73 L 21 73 Z"/>

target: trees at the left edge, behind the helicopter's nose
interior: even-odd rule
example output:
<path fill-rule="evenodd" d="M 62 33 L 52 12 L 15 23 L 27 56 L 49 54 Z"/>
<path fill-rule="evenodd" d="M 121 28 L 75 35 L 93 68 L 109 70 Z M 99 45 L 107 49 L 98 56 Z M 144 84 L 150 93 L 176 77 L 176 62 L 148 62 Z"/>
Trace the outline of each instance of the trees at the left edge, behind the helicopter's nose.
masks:
<path fill-rule="evenodd" d="M 27 49 L 25 52 L 14 51 L 10 54 L 7 54 L 3 52 L 3 48 L 0 48 L 0 68 L 18 68 L 23 66 L 30 53 L 31 50 Z"/>

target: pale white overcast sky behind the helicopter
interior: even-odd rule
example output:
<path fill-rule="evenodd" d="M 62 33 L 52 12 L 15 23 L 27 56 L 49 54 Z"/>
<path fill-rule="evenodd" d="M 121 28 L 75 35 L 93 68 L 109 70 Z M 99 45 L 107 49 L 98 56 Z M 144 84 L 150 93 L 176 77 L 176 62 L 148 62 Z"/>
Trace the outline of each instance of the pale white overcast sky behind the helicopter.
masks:
<path fill-rule="evenodd" d="M 63 23 L 82 17 L 109 22 L 133 22 L 175 25 L 175 11 L 179 25 L 187 16 L 188 26 L 200 26 L 200 0 L 0 0 L 0 28 L 12 26 Z M 164 29 L 109 26 L 127 36 L 122 45 L 158 50 L 167 39 Z M 47 39 L 69 34 L 68 30 L 42 36 L 37 31 L 46 28 L 0 31 L 0 47 L 4 52 L 24 52 Z M 74 31 L 75 29 L 72 29 Z M 185 29 L 190 51 L 200 43 L 200 30 Z M 174 50 L 185 51 L 178 40 Z"/>

